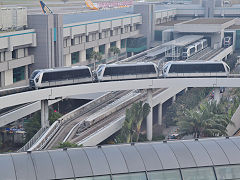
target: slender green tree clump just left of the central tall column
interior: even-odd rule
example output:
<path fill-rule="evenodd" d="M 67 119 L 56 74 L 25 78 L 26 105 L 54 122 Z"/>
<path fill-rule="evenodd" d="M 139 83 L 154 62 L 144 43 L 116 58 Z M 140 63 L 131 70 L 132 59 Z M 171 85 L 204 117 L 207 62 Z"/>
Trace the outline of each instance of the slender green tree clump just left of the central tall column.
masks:
<path fill-rule="evenodd" d="M 117 142 L 130 143 L 138 142 L 143 120 L 150 112 L 149 104 L 143 104 L 142 101 L 133 103 L 130 109 L 126 110 L 126 118 Z"/>

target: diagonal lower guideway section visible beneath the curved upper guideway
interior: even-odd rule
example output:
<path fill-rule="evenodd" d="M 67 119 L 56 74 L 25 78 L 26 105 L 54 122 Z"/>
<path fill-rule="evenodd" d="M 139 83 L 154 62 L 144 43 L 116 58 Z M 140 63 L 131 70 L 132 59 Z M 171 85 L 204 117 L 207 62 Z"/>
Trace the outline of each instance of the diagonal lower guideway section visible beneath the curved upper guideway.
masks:
<path fill-rule="evenodd" d="M 182 90 L 184 90 L 184 88 L 168 88 L 155 90 L 153 92 L 152 107 L 158 105 L 159 103 L 164 103 L 169 98 L 173 97 L 175 94 L 181 92 Z M 142 97 L 143 98 L 142 100 L 146 101 L 146 96 L 144 97 L 143 95 L 137 92 L 135 92 L 134 94 L 136 94 L 139 97 Z M 127 99 L 129 99 L 128 101 L 131 101 L 131 98 L 124 99 L 122 100 L 126 101 Z M 74 113 L 67 114 L 66 118 L 67 116 L 71 116 L 71 118 L 67 120 L 69 123 L 66 123 L 67 121 L 64 120 L 66 119 L 65 117 L 61 118 L 63 122 L 65 121 L 65 123 L 62 123 L 61 119 L 58 122 L 55 122 L 55 124 L 56 123 L 62 124 L 63 127 L 56 126 L 53 124 L 49 128 L 49 131 L 47 131 L 44 134 L 43 138 L 40 138 L 38 142 L 36 142 L 36 144 L 30 150 L 52 148 L 57 146 L 60 142 L 64 141 L 70 141 L 80 144 L 81 142 L 84 141 L 84 143 L 82 143 L 84 145 L 96 145 L 99 142 L 102 142 L 103 140 L 105 140 L 106 138 L 108 138 L 121 128 L 122 125 L 121 123 L 125 119 L 125 109 L 131 105 L 131 102 L 129 103 L 128 101 L 126 101 L 128 102 L 129 105 L 124 106 L 124 108 L 122 109 L 121 104 L 124 103 L 124 101 L 122 100 L 120 101 L 119 99 L 117 99 L 117 101 L 112 102 L 112 104 L 109 104 L 108 107 L 104 109 L 101 110 L 93 109 L 93 111 L 89 111 L 86 115 L 82 114 L 79 117 L 78 115 L 75 117 L 74 114 L 79 114 L 78 111 L 81 111 L 82 107 L 80 107 L 79 110 L 75 110 Z M 89 118 L 90 119 L 93 118 L 93 120 L 98 120 L 99 123 L 90 126 L 81 133 L 78 133 L 78 135 L 76 136 L 75 134 L 77 133 L 77 130 L 80 127 L 80 123 L 82 123 L 83 120 Z M 69 129 L 69 127 L 72 127 L 72 129 Z M 55 128 L 59 128 L 59 131 L 55 130 Z M 64 130 L 66 128 L 67 130 Z M 51 137 L 51 139 L 49 139 L 48 137 Z"/>

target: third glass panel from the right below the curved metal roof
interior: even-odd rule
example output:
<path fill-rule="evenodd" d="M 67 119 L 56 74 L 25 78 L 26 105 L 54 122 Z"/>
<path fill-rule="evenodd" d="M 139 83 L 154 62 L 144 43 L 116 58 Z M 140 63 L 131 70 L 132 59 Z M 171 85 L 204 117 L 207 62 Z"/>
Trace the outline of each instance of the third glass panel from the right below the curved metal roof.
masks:
<path fill-rule="evenodd" d="M 149 180 L 181 180 L 179 170 L 153 171 L 148 172 Z"/>

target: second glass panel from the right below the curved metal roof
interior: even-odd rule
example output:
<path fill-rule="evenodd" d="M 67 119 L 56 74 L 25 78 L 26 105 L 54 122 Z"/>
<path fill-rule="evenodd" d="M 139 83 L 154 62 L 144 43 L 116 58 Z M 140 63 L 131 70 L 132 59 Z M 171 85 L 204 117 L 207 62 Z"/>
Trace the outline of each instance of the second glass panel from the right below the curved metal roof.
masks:
<path fill-rule="evenodd" d="M 213 168 L 182 169 L 183 180 L 216 180 Z"/>

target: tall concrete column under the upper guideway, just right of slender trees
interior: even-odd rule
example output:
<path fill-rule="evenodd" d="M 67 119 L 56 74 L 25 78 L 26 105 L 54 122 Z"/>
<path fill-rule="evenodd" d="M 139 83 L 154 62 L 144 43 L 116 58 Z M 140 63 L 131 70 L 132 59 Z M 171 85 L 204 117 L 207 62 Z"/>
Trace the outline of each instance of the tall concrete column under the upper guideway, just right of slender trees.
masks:
<path fill-rule="evenodd" d="M 153 107 L 152 107 L 152 90 L 147 90 L 147 103 L 150 106 L 150 112 L 147 116 L 147 139 L 152 140 L 152 129 L 153 129 Z"/>

